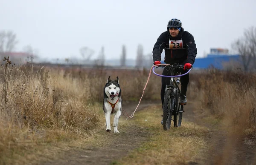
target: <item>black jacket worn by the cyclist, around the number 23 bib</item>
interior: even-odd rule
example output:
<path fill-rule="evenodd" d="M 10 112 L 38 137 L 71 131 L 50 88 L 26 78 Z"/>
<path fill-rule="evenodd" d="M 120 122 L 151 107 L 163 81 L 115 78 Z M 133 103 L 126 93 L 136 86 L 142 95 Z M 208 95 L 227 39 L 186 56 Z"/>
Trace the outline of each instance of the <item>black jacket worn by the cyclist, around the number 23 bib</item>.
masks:
<path fill-rule="evenodd" d="M 182 39 L 182 49 L 169 49 L 169 40 L 181 40 Z M 172 37 L 169 30 L 160 34 L 157 38 L 157 42 L 153 48 L 153 61 L 161 60 L 161 53 L 165 49 L 165 63 L 181 63 L 185 60 L 187 63 L 195 62 L 195 57 L 197 54 L 197 48 L 195 45 L 195 40 L 192 34 L 188 31 L 184 31 L 183 28 L 179 31 L 177 37 Z"/>

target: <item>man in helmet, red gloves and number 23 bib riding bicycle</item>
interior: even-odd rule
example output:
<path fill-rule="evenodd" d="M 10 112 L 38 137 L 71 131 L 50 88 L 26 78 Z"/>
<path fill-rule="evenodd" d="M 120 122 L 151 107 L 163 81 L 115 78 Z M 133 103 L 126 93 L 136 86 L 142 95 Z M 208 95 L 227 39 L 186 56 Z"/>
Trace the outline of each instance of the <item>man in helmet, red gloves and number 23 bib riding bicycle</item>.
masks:
<path fill-rule="evenodd" d="M 181 25 L 181 21 L 176 18 L 169 20 L 167 24 L 167 31 L 160 34 L 160 36 L 157 38 L 157 42 L 154 44 L 153 61 L 154 65 L 161 64 L 161 53 L 163 49 L 165 49 L 164 62 L 171 65 L 174 63 L 185 65 L 184 70 L 181 71 L 181 74 L 184 74 L 186 73 L 185 69 L 191 68 L 191 66 L 195 62 L 197 48 L 193 35 L 190 34 L 188 31 L 184 31 Z M 162 75 L 169 75 L 169 71 L 164 68 Z M 170 82 L 170 77 L 162 77 L 162 108 L 166 89 L 166 82 Z M 180 83 L 180 103 L 186 104 L 186 91 L 189 83 L 189 74 L 180 77 Z"/>

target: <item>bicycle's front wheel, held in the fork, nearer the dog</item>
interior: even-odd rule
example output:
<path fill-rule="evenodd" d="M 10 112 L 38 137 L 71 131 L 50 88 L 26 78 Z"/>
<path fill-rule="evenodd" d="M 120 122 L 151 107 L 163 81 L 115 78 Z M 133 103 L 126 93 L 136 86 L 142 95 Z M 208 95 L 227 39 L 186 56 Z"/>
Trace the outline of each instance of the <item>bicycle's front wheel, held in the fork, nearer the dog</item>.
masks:
<path fill-rule="evenodd" d="M 169 130 L 172 122 L 172 112 L 171 112 L 171 104 L 172 104 L 172 90 L 167 89 L 164 96 L 163 101 L 163 130 Z"/>

